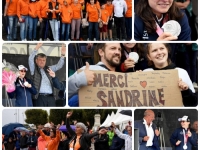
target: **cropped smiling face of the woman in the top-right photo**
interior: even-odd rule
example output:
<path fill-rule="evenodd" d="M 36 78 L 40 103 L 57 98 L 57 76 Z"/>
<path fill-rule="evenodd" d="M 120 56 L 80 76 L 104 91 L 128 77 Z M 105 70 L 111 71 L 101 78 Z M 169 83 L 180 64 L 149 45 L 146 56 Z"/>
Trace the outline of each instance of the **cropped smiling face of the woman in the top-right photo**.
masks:
<path fill-rule="evenodd" d="M 173 0 L 148 0 L 148 2 L 153 13 L 159 17 L 161 14 L 166 13 L 169 10 L 172 6 Z"/>

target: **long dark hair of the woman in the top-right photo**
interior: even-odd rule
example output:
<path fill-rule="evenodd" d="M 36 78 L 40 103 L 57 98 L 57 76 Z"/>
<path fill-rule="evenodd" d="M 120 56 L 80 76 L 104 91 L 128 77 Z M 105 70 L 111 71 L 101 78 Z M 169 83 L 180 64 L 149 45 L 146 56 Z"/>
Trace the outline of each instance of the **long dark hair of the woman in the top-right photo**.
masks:
<path fill-rule="evenodd" d="M 148 0 L 139 0 L 136 5 L 135 13 L 143 20 L 145 29 L 148 33 L 154 33 L 156 31 L 155 16 L 151 7 L 149 6 Z M 174 0 L 167 14 L 169 16 L 169 20 L 178 21 L 183 17 L 183 13 L 176 6 Z"/>

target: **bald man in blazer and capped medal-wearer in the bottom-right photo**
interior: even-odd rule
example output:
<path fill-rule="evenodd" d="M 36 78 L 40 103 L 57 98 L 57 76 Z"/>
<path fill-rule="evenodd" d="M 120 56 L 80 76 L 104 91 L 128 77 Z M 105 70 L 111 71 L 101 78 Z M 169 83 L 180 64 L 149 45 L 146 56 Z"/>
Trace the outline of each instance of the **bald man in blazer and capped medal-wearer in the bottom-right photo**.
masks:
<path fill-rule="evenodd" d="M 142 120 L 134 122 L 134 128 L 139 129 L 139 150 L 160 150 L 160 130 L 153 123 L 155 113 L 153 110 L 146 110 Z M 170 136 L 170 143 L 175 150 L 197 150 L 198 149 L 198 121 L 191 120 L 188 116 L 178 119 L 180 127 L 175 129 Z M 165 139 L 167 140 L 167 139 Z"/>

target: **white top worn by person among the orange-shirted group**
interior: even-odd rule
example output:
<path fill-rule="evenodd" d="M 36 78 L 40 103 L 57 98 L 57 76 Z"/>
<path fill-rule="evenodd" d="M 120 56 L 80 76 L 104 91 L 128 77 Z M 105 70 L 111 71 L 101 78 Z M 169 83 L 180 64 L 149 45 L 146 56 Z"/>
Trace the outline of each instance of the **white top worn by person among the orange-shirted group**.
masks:
<path fill-rule="evenodd" d="M 115 17 L 124 17 L 123 12 L 127 12 L 127 4 L 124 0 L 114 0 L 112 2 L 114 6 L 114 16 Z"/>

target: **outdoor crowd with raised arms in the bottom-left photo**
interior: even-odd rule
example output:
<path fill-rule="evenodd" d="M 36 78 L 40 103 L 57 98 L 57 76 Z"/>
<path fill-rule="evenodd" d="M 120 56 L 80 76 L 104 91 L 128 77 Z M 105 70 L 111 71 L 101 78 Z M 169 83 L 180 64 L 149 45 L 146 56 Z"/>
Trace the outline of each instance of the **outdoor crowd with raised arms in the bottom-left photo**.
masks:
<path fill-rule="evenodd" d="M 29 132 L 14 129 L 5 135 L 2 150 L 132 150 L 132 127 L 128 125 L 123 133 L 115 123 L 110 127 L 98 127 L 95 131 L 82 122 L 74 122 L 75 129 L 70 126 L 72 112 L 66 115 L 66 130 L 60 130 L 60 124 L 46 123 L 38 125 L 37 130 Z"/>

